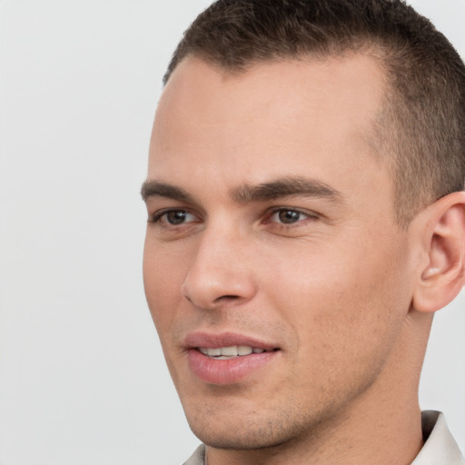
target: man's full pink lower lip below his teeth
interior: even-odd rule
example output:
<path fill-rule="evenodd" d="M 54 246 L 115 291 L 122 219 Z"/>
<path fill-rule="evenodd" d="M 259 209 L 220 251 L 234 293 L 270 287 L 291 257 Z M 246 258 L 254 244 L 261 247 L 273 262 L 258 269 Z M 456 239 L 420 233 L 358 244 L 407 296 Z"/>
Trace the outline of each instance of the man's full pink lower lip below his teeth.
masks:
<path fill-rule="evenodd" d="M 189 366 L 193 374 L 209 384 L 233 384 L 242 381 L 265 363 L 272 361 L 278 351 L 251 353 L 229 360 L 215 360 L 196 349 L 187 352 Z"/>

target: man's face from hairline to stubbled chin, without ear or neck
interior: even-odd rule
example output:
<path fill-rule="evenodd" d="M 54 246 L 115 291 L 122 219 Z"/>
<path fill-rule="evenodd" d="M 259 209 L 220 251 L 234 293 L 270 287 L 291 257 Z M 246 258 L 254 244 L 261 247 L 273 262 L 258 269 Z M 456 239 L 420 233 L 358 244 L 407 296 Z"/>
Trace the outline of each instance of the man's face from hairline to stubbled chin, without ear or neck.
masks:
<path fill-rule="evenodd" d="M 363 55 L 243 74 L 188 58 L 164 90 L 144 285 L 187 419 L 213 447 L 303 438 L 401 382 L 411 259 L 371 153 L 382 83 Z"/>

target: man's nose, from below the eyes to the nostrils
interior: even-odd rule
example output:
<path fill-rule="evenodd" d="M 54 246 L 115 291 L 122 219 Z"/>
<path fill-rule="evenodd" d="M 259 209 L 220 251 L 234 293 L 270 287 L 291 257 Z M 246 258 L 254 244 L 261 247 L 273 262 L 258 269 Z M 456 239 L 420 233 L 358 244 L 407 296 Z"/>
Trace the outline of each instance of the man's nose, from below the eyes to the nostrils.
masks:
<path fill-rule="evenodd" d="M 231 231 L 203 232 L 182 285 L 183 296 L 206 310 L 252 300 L 256 293 L 252 248 L 250 240 Z"/>

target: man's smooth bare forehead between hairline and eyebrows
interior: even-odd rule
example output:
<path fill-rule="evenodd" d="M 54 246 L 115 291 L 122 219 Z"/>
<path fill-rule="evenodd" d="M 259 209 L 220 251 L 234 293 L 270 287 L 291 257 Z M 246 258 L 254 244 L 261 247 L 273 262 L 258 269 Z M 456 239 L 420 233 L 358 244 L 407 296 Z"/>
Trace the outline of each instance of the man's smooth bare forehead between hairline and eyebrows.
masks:
<path fill-rule="evenodd" d="M 338 183 L 357 169 L 369 176 L 383 93 L 379 64 L 363 54 L 257 64 L 241 73 L 188 57 L 157 109 L 149 178 L 185 185 L 188 167 L 191 177 L 233 188 L 302 174 Z"/>

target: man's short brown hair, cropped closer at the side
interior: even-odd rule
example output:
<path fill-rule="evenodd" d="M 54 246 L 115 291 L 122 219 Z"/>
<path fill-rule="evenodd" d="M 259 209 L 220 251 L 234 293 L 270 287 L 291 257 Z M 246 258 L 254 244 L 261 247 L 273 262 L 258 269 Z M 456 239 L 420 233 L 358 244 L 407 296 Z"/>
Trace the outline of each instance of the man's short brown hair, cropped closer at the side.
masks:
<path fill-rule="evenodd" d="M 371 54 L 389 79 L 374 148 L 389 166 L 398 222 L 461 191 L 465 66 L 428 19 L 401 0 L 218 0 L 183 35 L 163 78 L 187 55 L 231 72 L 305 55 Z"/>

